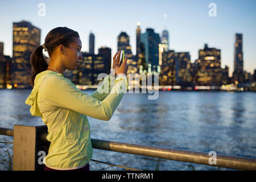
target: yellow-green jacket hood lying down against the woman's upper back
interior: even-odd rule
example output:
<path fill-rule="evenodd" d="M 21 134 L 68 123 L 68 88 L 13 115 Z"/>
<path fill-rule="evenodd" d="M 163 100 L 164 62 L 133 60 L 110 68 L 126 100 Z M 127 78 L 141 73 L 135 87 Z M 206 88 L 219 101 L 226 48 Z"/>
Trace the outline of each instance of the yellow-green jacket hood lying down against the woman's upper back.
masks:
<path fill-rule="evenodd" d="M 30 96 L 28 96 L 27 100 L 25 101 L 25 104 L 31 105 L 30 107 L 31 115 L 42 116 L 42 113 L 40 112 L 38 107 L 38 89 L 42 81 L 44 80 L 44 78 L 50 75 L 63 76 L 62 74 L 59 74 L 50 70 L 40 72 L 38 73 L 38 75 L 36 75 L 35 81 L 34 81 L 34 88 L 32 89 Z"/>

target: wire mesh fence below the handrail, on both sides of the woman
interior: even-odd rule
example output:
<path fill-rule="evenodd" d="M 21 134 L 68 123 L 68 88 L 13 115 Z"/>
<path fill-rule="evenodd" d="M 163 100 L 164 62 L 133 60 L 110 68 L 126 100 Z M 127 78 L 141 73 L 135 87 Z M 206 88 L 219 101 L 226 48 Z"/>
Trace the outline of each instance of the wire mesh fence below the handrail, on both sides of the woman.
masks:
<path fill-rule="evenodd" d="M 90 171 L 122 171 L 131 170 L 138 171 L 138 169 L 128 168 L 124 166 L 118 166 L 92 159 L 89 162 Z M 13 170 L 13 143 L 0 142 L 0 171 L 12 171 Z"/>

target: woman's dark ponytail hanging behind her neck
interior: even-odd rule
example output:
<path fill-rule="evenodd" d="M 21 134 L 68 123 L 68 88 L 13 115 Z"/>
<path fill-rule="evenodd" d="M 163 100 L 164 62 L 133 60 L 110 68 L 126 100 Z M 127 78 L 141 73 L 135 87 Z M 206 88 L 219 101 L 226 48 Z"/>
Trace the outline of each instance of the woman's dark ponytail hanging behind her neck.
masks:
<path fill-rule="evenodd" d="M 48 64 L 43 55 L 43 46 L 39 46 L 34 49 L 30 57 L 30 63 L 32 66 L 31 86 L 34 87 L 34 81 L 38 73 L 46 71 Z"/>

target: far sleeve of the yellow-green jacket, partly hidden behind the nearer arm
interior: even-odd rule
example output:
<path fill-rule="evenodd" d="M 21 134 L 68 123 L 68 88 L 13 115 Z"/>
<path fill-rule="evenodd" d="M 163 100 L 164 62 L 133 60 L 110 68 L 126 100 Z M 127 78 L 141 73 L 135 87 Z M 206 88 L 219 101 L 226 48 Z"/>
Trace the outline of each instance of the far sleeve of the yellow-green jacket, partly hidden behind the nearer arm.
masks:
<path fill-rule="evenodd" d="M 96 98 L 99 101 L 104 100 L 106 96 L 108 96 L 110 93 L 110 85 L 114 79 L 115 78 L 111 75 L 106 76 L 104 80 L 101 82 L 101 85 L 98 85 L 97 90 L 93 92 L 90 96 Z"/>

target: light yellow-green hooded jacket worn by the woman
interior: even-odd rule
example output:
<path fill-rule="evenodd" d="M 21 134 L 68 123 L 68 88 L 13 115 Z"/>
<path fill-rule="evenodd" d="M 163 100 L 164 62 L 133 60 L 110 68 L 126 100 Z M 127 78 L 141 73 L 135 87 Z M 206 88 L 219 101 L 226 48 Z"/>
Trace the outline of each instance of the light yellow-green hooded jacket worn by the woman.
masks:
<path fill-rule="evenodd" d="M 126 76 L 119 75 L 110 90 L 110 78 L 91 95 L 76 88 L 70 80 L 53 71 L 36 75 L 34 88 L 25 103 L 30 113 L 40 116 L 47 125 L 47 139 L 51 142 L 44 164 L 53 169 L 84 167 L 92 159 L 89 117 L 108 121 L 122 100 L 122 89 L 127 90 Z M 108 93 L 102 93 L 109 85 Z M 110 92 L 111 91 L 111 92 Z"/>

